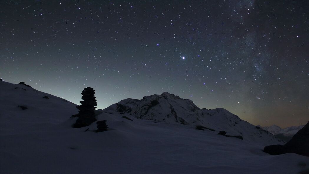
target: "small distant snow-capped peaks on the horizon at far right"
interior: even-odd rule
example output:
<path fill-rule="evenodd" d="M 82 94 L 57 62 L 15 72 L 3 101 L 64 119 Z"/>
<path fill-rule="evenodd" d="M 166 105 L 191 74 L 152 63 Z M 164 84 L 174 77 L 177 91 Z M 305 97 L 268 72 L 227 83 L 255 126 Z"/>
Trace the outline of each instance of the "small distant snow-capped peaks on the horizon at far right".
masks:
<path fill-rule="evenodd" d="M 293 136 L 303 127 L 304 127 L 304 125 L 291 126 L 291 127 L 287 127 L 287 128 L 280 128 L 279 126 L 274 124 L 272 126 L 262 127 L 262 129 L 267 130 L 268 132 L 272 133 L 273 135 L 283 134 L 285 136 Z"/>

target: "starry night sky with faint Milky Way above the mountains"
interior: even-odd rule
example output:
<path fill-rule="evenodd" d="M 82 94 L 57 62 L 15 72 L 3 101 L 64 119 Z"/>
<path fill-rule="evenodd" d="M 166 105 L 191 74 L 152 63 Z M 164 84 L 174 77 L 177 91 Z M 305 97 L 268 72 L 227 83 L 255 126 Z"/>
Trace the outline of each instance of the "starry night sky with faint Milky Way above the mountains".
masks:
<path fill-rule="evenodd" d="M 98 108 L 169 93 L 252 124 L 309 120 L 309 1 L 0 2 L 0 78 Z"/>

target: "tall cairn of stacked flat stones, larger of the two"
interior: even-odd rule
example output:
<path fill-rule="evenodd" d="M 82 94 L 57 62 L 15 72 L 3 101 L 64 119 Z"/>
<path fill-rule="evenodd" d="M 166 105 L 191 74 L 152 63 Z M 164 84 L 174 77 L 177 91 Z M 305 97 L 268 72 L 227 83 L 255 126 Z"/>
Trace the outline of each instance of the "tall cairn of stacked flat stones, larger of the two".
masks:
<path fill-rule="evenodd" d="M 95 106 L 97 106 L 97 103 L 94 96 L 95 90 L 87 87 L 81 94 L 83 95 L 82 99 L 84 101 L 80 101 L 82 105 L 76 107 L 79 110 L 78 114 L 72 115 L 72 117 L 78 117 L 76 123 L 73 125 L 74 128 L 89 126 L 91 123 L 96 121 Z"/>

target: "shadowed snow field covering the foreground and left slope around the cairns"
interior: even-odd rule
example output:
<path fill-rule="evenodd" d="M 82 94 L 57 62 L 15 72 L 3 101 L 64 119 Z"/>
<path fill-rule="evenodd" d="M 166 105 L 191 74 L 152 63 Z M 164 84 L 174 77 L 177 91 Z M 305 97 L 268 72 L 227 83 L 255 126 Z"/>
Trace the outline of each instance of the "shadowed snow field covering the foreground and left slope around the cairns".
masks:
<path fill-rule="evenodd" d="M 109 131 L 94 133 L 95 123 L 72 128 L 76 105 L 3 81 L 0 103 L 0 173 L 290 174 L 309 165 L 308 157 L 269 155 L 251 140 L 195 130 L 193 125 L 141 120 L 111 109 L 97 111 Z"/>

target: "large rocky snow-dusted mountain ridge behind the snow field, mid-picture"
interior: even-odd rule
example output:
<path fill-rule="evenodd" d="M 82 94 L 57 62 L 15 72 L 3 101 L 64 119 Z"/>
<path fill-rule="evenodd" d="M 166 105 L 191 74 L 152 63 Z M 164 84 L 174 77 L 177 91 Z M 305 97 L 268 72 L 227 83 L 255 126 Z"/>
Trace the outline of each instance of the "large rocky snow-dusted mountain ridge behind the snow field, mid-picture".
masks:
<path fill-rule="evenodd" d="M 124 112 L 137 119 L 164 121 L 169 124 L 202 125 L 228 135 L 241 135 L 245 140 L 258 144 L 282 144 L 272 134 L 241 120 L 223 109 L 200 109 L 191 100 L 164 92 L 138 99 L 125 99 L 104 109 Z"/>

